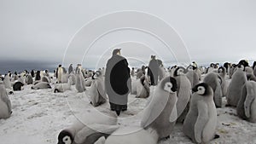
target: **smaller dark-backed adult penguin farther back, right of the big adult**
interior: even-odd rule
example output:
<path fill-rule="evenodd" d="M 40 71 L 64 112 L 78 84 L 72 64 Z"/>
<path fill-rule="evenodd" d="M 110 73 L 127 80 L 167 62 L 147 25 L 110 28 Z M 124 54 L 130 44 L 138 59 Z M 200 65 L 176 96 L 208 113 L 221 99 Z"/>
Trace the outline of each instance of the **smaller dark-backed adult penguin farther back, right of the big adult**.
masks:
<path fill-rule="evenodd" d="M 155 59 L 155 55 L 151 55 L 151 60 L 148 64 L 148 78 L 150 78 L 151 85 L 157 85 L 159 77 L 159 65 Z"/>

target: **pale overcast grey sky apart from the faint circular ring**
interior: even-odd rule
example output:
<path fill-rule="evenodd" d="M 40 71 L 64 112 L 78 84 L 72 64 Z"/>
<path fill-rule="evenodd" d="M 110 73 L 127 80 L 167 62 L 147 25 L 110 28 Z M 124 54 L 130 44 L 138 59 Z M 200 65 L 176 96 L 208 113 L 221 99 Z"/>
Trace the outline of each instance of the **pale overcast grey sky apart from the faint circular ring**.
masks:
<path fill-rule="evenodd" d="M 137 55 L 134 51 L 138 48 L 146 48 L 137 52 L 143 54 L 147 52 L 147 55 L 137 55 L 140 61 L 148 62 L 150 54 L 162 57 L 166 62 L 172 61 L 173 55 L 165 51 L 165 46 L 157 45 L 159 42 L 155 38 L 146 36 L 143 32 L 131 30 L 113 32 L 108 37 L 102 37 L 92 47 L 95 50 L 91 50 L 84 59 L 82 54 L 89 47 L 86 44 L 91 42 L 84 43 L 79 48 L 75 47 L 72 41 L 70 47 L 73 48 L 67 49 L 72 38 L 80 37 L 89 41 L 90 33 L 80 34 L 79 37 L 74 36 L 76 32 L 79 34 L 79 30 L 84 31 L 81 27 L 86 23 L 104 14 L 123 10 L 154 14 L 160 20 L 166 21 L 182 37 L 188 49 L 189 60 L 199 63 L 238 62 L 240 59 L 256 60 L 255 8 L 256 1 L 254 0 L 1 0 L 0 60 L 2 60 L 1 63 L 3 60 L 22 60 L 54 64 L 64 60 L 65 65 L 70 62 L 74 64 L 83 62 L 84 66 L 93 66 L 97 56 L 105 55 L 108 58 L 111 50 L 107 49 L 119 46 L 124 47 L 122 54 L 125 57 L 134 58 Z M 120 19 L 113 20 L 113 22 Z M 105 23 L 100 24 L 102 27 L 105 26 Z M 95 27 L 91 32 L 97 29 Z M 109 41 L 111 43 L 106 43 Z M 130 43 L 133 49 L 128 50 L 127 47 L 130 45 L 127 43 Z M 68 53 L 66 56 L 77 59 L 63 59 L 66 49 Z M 79 55 L 73 54 L 74 51 Z M 170 59 L 166 55 L 170 55 Z"/>

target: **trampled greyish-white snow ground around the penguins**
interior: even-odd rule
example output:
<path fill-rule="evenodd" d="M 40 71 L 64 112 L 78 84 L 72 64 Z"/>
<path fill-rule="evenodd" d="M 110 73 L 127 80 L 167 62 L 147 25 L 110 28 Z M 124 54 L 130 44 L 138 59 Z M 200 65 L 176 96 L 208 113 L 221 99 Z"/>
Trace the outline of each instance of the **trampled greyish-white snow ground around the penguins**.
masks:
<path fill-rule="evenodd" d="M 53 84 L 52 84 L 53 86 Z M 13 113 L 8 119 L 0 119 L 0 143 L 2 144 L 55 144 L 59 132 L 71 124 L 83 112 L 90 112 L 95 107 L 90 105 L 87 87 L 85 93 L 72 90 L 64 93 L 54 93 L 53 89 L 31 89 L 26 85 L 23 90 L 9 95 Z M 154 95 L 155 87 L 150 87 Z M 120 126 L 138 126 L 142 118 L 143 108 L 148 99 L 137 99 L 129 95 L 128 111 L 121 112 L 118 120 Z M 256 124 L 249 123 L 236 116 L 236 109 L 218 108 L 218 126 L 216 133 L 220 138 L 211 141 L 212 144 L 255 144 Z M 111 112 L 108 102 L 96 107 L 102 113 Z M 183 134 L 182 124 L 176 124 L 170 139 L 160 141 L 160 144 L 192 143 Z"/>

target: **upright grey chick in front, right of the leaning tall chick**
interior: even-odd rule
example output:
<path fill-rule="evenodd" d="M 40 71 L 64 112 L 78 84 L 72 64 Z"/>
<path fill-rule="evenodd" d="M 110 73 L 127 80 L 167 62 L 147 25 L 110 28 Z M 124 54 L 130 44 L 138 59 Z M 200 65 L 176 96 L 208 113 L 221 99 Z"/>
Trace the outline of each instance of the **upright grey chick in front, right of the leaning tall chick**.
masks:
<path fill-rule="evenodd" d="M 197 84 L 193 89 L 190 108 L 183 123 L 183 132 L 195 143 L 208 143 L 215 135 L 217 111 L 213 101 L 212 88 Z"/>

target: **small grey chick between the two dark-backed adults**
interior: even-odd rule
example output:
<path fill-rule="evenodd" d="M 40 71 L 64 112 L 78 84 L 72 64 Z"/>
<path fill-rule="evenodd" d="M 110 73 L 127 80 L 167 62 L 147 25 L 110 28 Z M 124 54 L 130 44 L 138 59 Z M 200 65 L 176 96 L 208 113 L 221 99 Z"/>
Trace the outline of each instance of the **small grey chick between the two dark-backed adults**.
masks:
<path fill-rule="evenodd" d="M 131 82 L 131 94 L 136 95 L 136 98 L 148 98 L 150 94 L 149 80 L 143 75 L 141 78 Z"/>

